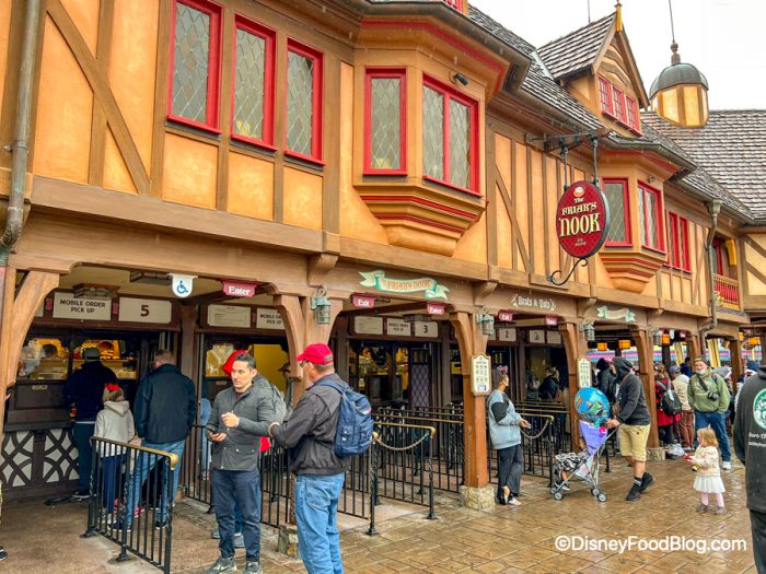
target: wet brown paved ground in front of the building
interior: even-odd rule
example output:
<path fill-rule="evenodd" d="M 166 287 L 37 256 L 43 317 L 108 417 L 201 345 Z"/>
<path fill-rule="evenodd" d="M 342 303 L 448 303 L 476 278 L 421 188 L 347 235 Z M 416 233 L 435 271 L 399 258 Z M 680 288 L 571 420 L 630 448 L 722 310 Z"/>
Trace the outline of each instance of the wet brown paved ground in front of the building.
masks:
<path fill-rule="evenodd" d="M 698 500 L 692 489 L 694 475 L 684 461 L 650 464 L 650 471 L 657 483 L 637 503 L 624 500 L 630 485 L 630 469 L 617 461 L 612 473 L 603 475 L 602 487 L 610 495 L 605 503 L 596 502 L 582 484 L 557 502 L 545 481 L 524 477 L 524 496 L 519 507 L 497 506 L 478 512 L 460 508 L 452 495 L 440 495 L 438 520 L 427 520 L 425 509 L 414 507 L 410 514 L 379 523 L 379 535 L 372 538 L 367 536 L 363 523 L 345 519 L 341 543 L 346 572 L 755 574 L 741 466 L 734 464 L 734 470 L 724 471 L 728 513 L 721 516 L 695 513 Z M 173 571 L 201 573 L 218 554 L 216 541 L 209 536 L 213 518 L 195 504 L 182 503 L 176 508 Z M 159 572 L 138 560 L 114 564 L 109 562 L 117 554 L 114 544 L 101 537 L 79 538 L 84 530 L 85 511 L 81 504 L 56 508 L 39 502 L 9 504 L 3 508 L 0 543 L 11 558 L 0 564 L 0 572 Z M 686 537 L 686 543 L 698 544 L 742 539 L 747 549 L 701 553 L 657 548 L 632 548 L 624 553 L 606 548 L 562 551 L 556 546 L 561 536 L 580 537 L 570 538 L 573 543 L 585 538 L 645 543 L 640 540 L 677 536 Z M 264 528 L 263 566 L 267 574 L 304 572 L 300 561 L 277 554 L 275 548 L 275 530 Z"/>

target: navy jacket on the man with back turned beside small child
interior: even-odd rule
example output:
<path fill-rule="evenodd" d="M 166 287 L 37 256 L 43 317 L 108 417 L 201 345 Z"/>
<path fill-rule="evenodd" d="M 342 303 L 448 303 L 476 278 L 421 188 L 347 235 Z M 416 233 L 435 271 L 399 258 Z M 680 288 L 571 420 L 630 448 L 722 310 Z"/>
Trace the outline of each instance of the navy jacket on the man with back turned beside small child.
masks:
<path fill-rule="evenodd" d="M 192 379 L 175 365 L 160 365 L 138 387 L 136 433 L 147 443 L 184 441 L 197 418 L 197 393 Z"/>

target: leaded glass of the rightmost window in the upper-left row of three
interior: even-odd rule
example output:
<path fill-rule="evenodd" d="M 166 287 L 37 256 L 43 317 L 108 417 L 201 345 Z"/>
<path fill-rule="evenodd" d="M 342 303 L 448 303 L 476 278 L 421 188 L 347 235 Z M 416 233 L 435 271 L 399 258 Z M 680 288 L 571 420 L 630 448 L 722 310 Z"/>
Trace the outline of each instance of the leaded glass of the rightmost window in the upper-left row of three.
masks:
<path fill-rule="evenodd" d="M 288 148 L 313 155 L 314 58 L 288 52 L 287 138 Z"/>

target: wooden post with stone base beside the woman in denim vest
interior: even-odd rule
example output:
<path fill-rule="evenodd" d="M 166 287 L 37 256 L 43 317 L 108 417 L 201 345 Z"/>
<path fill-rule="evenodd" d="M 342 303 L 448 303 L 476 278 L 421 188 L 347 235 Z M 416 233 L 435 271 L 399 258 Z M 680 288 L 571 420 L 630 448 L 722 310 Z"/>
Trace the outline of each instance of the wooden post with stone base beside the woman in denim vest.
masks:
<path fill-rule="evenodd" d="M 463 371 L 465 475 L 461 497 L 466 506 L 487 508 L 495 505 L 495 500 L 494 490 L 488 488 L 485 397 L 476 397 L 471 391 L 471 359 L 474 354 L 486 353 L 487 336 L 481 333 L 475 317 L 465 312 L 450 314 L 450 321 L 457 336 Z"/>

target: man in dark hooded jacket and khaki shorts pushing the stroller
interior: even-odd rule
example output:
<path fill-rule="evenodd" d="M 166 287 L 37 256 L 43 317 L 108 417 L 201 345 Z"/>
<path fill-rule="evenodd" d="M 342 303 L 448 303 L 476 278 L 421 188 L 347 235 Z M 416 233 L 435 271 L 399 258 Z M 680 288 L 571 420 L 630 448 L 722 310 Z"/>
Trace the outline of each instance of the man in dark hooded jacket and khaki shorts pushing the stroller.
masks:
<path fill-rule="evenodd" d="M 649 440 L 649 427 L 651 426 L 651 414 L 647 407 L 647 398 L 643 394 L 641 379 L 632 372 L 632 363 L 622 356 L 615 358 L 613 362 L 619 393 L 618 414 L 614 419 L 606 421 L 610 429 L 619 427 L 619 452 L 632 466 L 632 487 L 625 497 L 632 502 L 641 497 L 641 492 L 654 482 L 654 477 L 647 469 L 647 442 Z"/>

